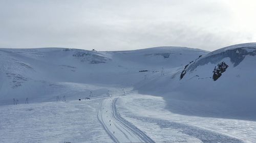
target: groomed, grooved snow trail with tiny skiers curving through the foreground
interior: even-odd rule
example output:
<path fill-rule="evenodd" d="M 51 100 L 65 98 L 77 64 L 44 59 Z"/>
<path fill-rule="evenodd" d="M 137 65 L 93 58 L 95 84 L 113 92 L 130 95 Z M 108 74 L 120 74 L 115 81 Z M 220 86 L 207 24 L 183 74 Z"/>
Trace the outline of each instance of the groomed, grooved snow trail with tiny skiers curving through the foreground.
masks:
<path fill-rule="evenodd" d="M 100 104 L 98 119 L 114 142 L 154 142 L 143 131 L 123 119 L 117 111 L 118 98 L 103 99 Z"/>

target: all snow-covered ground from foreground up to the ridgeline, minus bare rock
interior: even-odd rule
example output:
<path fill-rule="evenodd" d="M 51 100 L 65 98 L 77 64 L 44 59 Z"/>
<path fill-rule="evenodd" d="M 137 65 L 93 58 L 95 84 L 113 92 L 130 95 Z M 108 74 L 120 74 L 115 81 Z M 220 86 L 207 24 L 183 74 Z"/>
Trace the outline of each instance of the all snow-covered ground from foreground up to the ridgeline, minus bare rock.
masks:
<path fill-rule="evenodd" d="M 0 142 L 255 142 L 254 48 L 2 48 Z"/>

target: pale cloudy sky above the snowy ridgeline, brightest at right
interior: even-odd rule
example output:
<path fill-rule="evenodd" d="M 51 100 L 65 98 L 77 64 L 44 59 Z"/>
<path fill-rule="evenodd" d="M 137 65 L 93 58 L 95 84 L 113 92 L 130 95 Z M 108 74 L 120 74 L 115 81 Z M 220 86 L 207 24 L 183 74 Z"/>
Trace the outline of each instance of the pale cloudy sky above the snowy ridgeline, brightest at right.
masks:
<path fill-rule="evenodd" d="M 256 42 L 254 0 L 0 0 L 0 47 L 213 51 Z"/>

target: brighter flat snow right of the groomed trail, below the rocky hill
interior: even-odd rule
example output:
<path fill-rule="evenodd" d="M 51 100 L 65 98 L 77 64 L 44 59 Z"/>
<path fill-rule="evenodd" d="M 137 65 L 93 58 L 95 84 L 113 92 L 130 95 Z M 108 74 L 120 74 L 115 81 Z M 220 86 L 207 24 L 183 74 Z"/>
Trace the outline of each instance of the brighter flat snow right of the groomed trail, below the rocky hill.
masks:
<path fill-rule="evenodd" d="M 118 99 L 123 117 L 154 141 L 253 142 L 255 137 L 256 122 L 184 116 L 170 112 L 165 105 L 161 97 L 138 93 Z"/>

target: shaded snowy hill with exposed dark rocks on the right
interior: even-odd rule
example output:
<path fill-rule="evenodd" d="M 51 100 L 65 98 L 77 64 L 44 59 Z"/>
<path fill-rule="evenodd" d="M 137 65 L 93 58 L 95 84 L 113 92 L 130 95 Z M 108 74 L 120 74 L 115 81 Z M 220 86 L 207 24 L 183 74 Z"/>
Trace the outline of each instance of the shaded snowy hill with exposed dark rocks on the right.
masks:
<path fill-rule="evenodd" d="M 153 79 L 140 92 L 164 95 L 167 108 L 185 115 L 255 120 L 255 55 L 256 43 L 212 51 L 176 74 Z M 160 88 L 152 91 L 156 84 Z"/>

